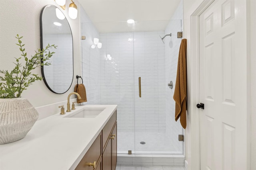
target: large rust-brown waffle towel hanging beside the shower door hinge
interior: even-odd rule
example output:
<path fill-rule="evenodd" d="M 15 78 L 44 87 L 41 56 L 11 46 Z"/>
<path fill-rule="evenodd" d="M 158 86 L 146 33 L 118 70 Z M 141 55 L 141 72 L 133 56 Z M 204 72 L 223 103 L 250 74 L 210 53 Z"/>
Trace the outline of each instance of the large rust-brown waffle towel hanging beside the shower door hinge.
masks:
<path fill-rule="evenodd" d="M 173 99 L 175 104 L 175 121 L 180 117 L 180 124 L 186 129 L 186 105 L 187 105 L 187 68 L 186 68 L 187 39 L 182 39 L 178 58 L 177 77 Z"/>

